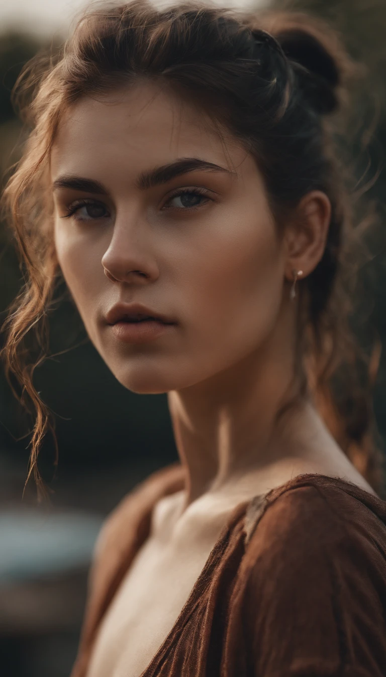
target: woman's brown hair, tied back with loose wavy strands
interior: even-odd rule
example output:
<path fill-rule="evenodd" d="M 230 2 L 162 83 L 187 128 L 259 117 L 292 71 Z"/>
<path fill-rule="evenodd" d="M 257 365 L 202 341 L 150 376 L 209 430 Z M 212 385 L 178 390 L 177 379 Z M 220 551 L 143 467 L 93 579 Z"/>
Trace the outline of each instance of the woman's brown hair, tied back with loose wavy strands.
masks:
<path fill-rule="evenodd" d="M 4 192 L 26 275 L 3 325 L 1 354 L 7 375 L 14 373 L 37 410 L 28 478 L 33 472 L 43 488 L 37 454 L 47 427 L 53 431 L 51 414 L 32 385 L 34 368 L 48 349 L 47 309 L 58 269 L 48 182 L 51 147 L 64 112 L 80 97 L 145 78 L 208 112 L 218 129 L 231 132 L 253 154 L 279 228 L 307 192 L 322 190 L 331 200 L 324 255 L 299 282 L 298 388 L 314 393 L 345 453 L 379 489 L 370 397 L 377 368 L 370 364 L 365 376 L 360 372 L 360 353 L 348 328 L 345 261 L 357 224 L 333 144 L 332 114 L 355 68 L 335 32 L 303 14 L 251 14 L 195 1 L 163 9 L 148 0 L 104 3 L 80 18 L 56 59 L 43 70 L 39 64 L 28 64 L 16 83 L 15 102 L 32 131 Z M 25 105 L 31 91 L 32 102 Z M 24 348 L 31 333 L 41 348 L 37 364 L 28 362 Z M 337 387 L 341 368 L 345 377 Z"/>

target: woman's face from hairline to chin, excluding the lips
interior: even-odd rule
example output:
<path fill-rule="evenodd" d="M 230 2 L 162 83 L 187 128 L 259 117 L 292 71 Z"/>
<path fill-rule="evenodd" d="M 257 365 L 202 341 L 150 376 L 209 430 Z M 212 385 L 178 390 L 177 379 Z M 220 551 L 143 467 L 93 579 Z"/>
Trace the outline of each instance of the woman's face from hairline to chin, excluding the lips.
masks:
<path fill-rule="evenodd" d="M 144 179 L 186 158 L 210 165 Z M 74 177 L 99 189 L 80 190 Z M 262 176 L 193 107 L 147 83 L 103 101 L 84 97 L 59 126 L 51 179 L 59 265 L 93 345 L 126 388 L 183 389 L 269 339 L 285 253 Z M 118 302 L 177 324 L 151 341 L 122 342 L 105 318 Z"/>

